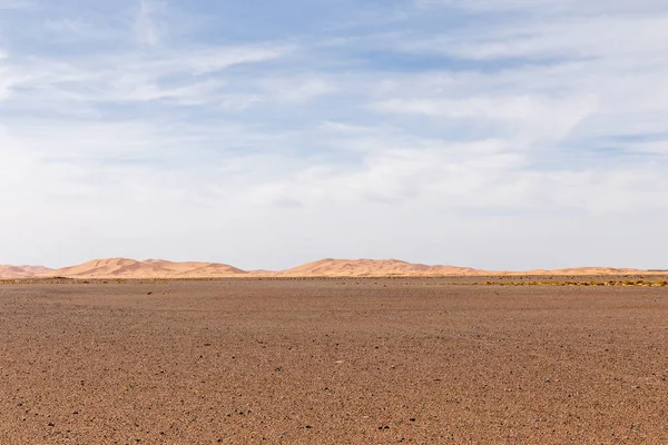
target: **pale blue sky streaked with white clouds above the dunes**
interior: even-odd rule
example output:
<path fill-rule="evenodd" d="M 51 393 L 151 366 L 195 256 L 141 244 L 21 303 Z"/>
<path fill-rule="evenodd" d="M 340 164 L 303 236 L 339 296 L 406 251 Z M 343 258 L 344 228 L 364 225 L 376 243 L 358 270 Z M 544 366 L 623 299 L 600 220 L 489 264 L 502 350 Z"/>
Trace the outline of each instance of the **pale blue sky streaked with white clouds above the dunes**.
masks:
<path fill-rule="evenodd" d="M 0 264 L 668 268 L 665 0 L 0 0 Z"/>

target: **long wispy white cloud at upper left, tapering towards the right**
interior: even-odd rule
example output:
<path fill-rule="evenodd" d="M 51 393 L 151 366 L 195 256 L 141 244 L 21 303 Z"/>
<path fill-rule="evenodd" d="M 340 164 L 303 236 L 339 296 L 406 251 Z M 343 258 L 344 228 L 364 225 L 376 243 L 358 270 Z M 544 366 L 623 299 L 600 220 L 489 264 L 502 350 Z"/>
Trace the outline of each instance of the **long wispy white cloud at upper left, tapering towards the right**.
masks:
<path fill-rule="evenodd" d="M 156 50 L 150 55 L 99 56 L 50 60 L 0 59 L 0 100 L 23 90 L 16 106 L 32 98 L 36 107 L 63 102 L 230 103 L 219 72 L 234 66 L 268 61 L 292 51 L 285 46 L 243 46 Z M 233 96 L 230 96 L 233 95 Z M 246 101 L 248 105 L 252 102 Z M 69 112 L 73 111 L 70 107 Z"/>

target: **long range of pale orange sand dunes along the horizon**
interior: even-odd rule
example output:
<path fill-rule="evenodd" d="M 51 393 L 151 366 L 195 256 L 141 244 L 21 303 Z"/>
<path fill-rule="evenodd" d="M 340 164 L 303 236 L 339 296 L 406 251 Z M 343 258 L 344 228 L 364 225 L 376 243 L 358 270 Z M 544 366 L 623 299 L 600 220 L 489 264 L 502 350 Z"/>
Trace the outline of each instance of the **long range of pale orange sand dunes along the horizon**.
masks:
<path fill-rule="evenodd" d="M 563 275 L 636 275 L 640 269 L 611 267 L 574 267 L 567 269 L 534 269 L 529 271 L 482 270 L 456 266 L 429 266 L 399 259 L 321 259 L 292 269 L 242 270 L 217 263 L 174 263 L 164 259 L 139 261 L 129 258 L 95 259 L 77 266 L 49 269 L 41 266 L 0 266 L 0 278 L 31 277 L 68 278 L 225 278 L 225 277 L 382 277 L 382 276 L 563 276 Z"/>

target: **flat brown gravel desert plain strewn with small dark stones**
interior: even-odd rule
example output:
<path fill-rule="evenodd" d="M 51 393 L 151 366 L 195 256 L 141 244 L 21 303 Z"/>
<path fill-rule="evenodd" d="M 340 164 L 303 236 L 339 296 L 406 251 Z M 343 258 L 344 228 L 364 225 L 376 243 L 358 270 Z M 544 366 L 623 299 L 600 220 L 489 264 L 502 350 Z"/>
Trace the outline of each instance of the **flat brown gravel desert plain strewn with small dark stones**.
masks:
<path fill-rule="evenodd" d="M 668 443 L 668 288 L 442 281 L 1 285 L 0 444 Z"/>

